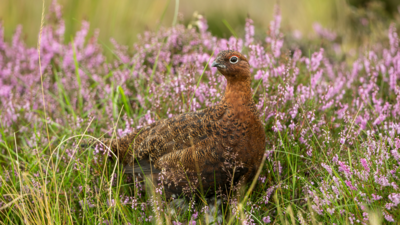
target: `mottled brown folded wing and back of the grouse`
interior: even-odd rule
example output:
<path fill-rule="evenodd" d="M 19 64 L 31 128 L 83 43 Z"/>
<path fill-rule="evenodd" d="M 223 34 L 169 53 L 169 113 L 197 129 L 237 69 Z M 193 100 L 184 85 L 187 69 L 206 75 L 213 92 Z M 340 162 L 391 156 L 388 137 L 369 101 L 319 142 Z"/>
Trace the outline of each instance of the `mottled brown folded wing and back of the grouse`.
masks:
<path fill-rule="evenodd" d="M 125 137 L 103 138 L 100 141 L 108 146 L 124 164 L 135 165 L 142 162 L 143 165 L 154 164 L 160 169 L 160 163 L 165 161 L 167 156 L 171 160 L 175 159 L 184 149 L 197 146 L 196 149 L 201 148 L 202 151 L 206 151 L 207 148 L 202 148 L 204 143 L 220 135 L 218 123 L 225 111 L 224 106 L 214 106 L 197 112 L 180 114 L 137 129 Z M 87 146 L 93 142 L 95 141 L 86 141 L 81 146 Z M 209 147 L 212 146 L 209 145 Z M 159 160 L 163 156 L 166 157 Z M 146 162 L 146 160 L 149 161 Z M 136 170 L 135 168 L 134 171 Z"/>

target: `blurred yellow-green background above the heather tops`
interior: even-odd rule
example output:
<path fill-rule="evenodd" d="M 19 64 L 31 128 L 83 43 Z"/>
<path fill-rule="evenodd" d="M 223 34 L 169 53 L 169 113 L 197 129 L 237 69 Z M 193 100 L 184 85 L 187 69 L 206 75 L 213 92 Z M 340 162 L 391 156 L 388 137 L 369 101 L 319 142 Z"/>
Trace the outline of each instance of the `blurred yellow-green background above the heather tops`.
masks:
<path fill-rule="evenodd" d="M 198 12 L 207 18 L 209 29 L 214 35 L 228 37 L 231 32 L 223 20 L 241 35 L 244 32 L 247 16 L 254 20 L 256 33 L 265 33 L 277 2 L 282 11 L 282 28 L 298 30 L 303 36 L 307 36 L 313 33 L 312 25 L 316 21 L 345 34 L 354 33 L 359 26 L 359 20 L 363 17 L 390 20 L 399 15 L 400 0 L 59 0 L 58 2 L 62 5 L 65 19 L 66 41 L 79 30 L 82 20 L 87 20 L 91 25 L 90 32 L 96 28 L 100 29 L 101 43 L 109 45 L 110 38 L 114 38 L 121 44 L 130 45 L 144 30 L 155 30 L 159 25 L 171 26 L 177 2 L 179 2 L 178 18 L 181 22 L 190 23 L 193 21 L 193 14 Z M 45 0 L 46 12 L 50 4 L 50 0 Z M 0 20 L 3 23 L 6 40 L 10 41 L 17 25 L 21 24 L 25 41 L 28 45 L 35 46 L 41 12 L 41 0 L 0 0 Z"/>

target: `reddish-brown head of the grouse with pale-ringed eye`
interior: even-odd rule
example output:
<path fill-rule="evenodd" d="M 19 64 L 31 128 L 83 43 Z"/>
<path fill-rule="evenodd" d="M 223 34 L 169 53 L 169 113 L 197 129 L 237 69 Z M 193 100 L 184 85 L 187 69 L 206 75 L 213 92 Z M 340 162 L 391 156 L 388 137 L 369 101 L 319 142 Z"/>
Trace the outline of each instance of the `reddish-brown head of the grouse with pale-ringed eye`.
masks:
<path fill-rule="evenodd" d="M 241 53 L 233 50 L 221 51 L 212 67 L 217 67 L 228 80 L 242 80 L 250 78 L 250 65 L 246 57 Z"/>

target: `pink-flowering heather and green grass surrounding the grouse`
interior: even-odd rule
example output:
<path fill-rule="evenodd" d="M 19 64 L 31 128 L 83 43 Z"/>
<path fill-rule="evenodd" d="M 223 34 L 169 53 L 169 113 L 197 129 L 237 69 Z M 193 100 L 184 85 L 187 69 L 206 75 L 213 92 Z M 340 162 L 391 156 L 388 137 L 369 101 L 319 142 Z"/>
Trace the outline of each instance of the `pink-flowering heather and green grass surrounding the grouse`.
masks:
<path fill-rule="evenodd" d="M 105 146 L 78 146 L 88 134 L 122 137 L 216 104 L 226 81 L 206 65 L 225 49 L 248 57 L 268 145 L 252 193 L 245 197 L 238 187 L 219 196 L 223 223 L 400 220 L 400 21 L 387 25 L 385 42 L 346 52 L 340 34 L 318 23 L 311 41 L 325 40 L 322 47 L 288 48 L 293 39 L 281 29 L 279 7 L 262 38 L 250 18 L 244 37 L 227 39 L 196 18 L 194 26 L 146 31 L 133 46 L 111 40 L 109 60 L 100 31 L 88 37 L 88 22 L 65 40 L 54 1 L 40 46 L 47 118 L 38 52 L 24 43 L 22 27 L 5 42 L 0 24 L 0 220 L 209 221 L 206 201 L 192 199 L 190 210 L 170 213 L 162 188 L 124 175 Z"/>

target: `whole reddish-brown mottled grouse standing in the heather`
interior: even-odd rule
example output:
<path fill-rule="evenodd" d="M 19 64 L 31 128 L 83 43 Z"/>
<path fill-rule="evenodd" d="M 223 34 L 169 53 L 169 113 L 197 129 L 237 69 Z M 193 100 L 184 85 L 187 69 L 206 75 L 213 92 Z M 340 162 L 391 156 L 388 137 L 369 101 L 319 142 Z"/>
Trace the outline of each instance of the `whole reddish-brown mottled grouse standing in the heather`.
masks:
<path fill-rule="evenodd" d="M 192 175 L 186 177 L 197 180 L 201 176 L 204 192 L 214 193 L 215 188 L 227 190 L 231 185 L 227 174 L 232 171 L 227 168 L 231 154 L 242 165 L 235 169 L 234 181 L 242 178 L 246 182 L 254 177 L 266 142 L 252 98 L 250 65 L 242 54 L 228 50 L 220 52 L 212 66 L 227 79 L 219 104 L 154 122 L 120 139 L 101 140 L 118 155 L 126 172 L 158 174 L 162 168 L 171 174 L 185 171 Z M 167 193 L 180 194 L 186 184 L 187 180 L 181 179 L 165 187 Z M 200 190 L 199 182 L 195 188 Z"/>

